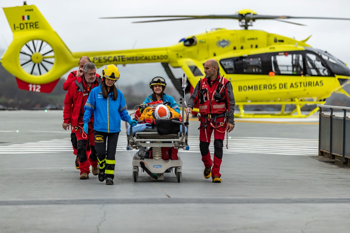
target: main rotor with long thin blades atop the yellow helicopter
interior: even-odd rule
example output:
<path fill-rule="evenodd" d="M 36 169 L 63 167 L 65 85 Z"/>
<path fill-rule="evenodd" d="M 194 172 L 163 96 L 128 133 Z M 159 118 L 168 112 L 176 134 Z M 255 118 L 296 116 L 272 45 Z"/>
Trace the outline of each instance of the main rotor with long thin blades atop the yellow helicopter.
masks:
<path fill-rule="evenodd" d="M 149 16 L 125 16 L 125 17 L 100 17 L 99 19 L 133 19 L 133 18 L 170 18 L 160 20 L 136 21 L 133 23 L 163 22 L 174 20 L 197 20 L 197 19 L 234 19 L 239 21 L 239 26 L 248 29 L 253 26 L 256 20 L 278 20 L 280 22 L 292 23 L 306 26 L 301 23 L 285 21 L 285 19 L 327 19 L 327 20 L 350 20 L 350 18 L 339 17 L 307 17 L 307 16 L 287 16 L 287 15 L 259 15 L 254 10 L 243 9 L 233 15 L 149 15 Z"/>

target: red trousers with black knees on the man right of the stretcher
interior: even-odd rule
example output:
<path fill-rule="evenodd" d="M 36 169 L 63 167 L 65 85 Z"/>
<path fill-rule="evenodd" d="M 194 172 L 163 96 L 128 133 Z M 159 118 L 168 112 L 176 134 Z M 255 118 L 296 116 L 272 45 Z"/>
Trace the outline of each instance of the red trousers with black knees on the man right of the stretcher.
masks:
<path fill-rule="evenodd" d="M 202 161 L 205 167 L 211 167 L 211 176 L 219 176 L 220 174 L 220 166 L 222 162 L 222 154 L 223 154 L 223 141 L 225 138 L 226 132 L 226 122 L 224 122 L 224 117 L 218 117 L 216 122 L 210 121 L 207 117 L 201 117 L 201 128 L 199 133 L 200 140 L 200 150 L 202 154 Z M 216 126 L 216 129 L 215 129 Z M 209 145 L 211 134 L 214 131 L 214 159 L 211 160 Z"/>

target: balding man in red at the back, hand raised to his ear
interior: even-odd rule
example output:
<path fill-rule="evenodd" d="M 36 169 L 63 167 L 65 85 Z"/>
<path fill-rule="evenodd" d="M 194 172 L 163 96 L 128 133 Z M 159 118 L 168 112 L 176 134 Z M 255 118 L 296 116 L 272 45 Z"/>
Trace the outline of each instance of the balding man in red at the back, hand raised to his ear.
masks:
<path fill-rule="evenodd" d="M 83 67 L 88 62 L 90 62 L 90 58 L 87 56 L 83 56 L 79 59 L 79 63 L 78 63 L 79 69 L 69 73 L 67 80 L 63 83 L 63 90 L 68 90 L 68 88 L 72 84 L 72 82 L 77 80 L 77 77 L 79 77 L 83 74 Z M 98 78 L 98 77 L 100 77 L 100 75 L 96 74 L 96 77 Z M 71 131 L 72 132 L 70 134 L 70 141 L 72 142 L 72 146 L 73 146 L 73 154 L 75 154 L 77 156 L 74 164 L 75 164 L 75 168 L 79 169 L 79 160 L 78 160 L 78 155 L 77 155 L 78 140 L 77 140 L 77 137 L 75 136 L 75 129 L 72 125 L 71 125 Z M 88 147 L 87 150 L 90 151 L 90 147 Z"/>

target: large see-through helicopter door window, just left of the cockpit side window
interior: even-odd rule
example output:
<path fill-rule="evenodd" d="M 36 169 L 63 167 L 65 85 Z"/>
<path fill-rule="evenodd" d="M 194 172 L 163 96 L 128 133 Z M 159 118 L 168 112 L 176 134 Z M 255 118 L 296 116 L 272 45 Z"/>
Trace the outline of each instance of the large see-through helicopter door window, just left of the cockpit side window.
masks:
<path fill-rule="evenodd" d="M 280 52 L 271 56 L 272 71 L 276 75 L 302 75 L 303 56 L 299 53 Z"/>

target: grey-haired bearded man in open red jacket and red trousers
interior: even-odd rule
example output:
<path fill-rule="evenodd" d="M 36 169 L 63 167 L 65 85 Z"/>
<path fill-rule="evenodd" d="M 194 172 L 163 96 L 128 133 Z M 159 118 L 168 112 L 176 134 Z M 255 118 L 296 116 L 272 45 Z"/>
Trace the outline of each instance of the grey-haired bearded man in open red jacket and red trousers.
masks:
<path fill-rule="evenodd" d="M 68 92 L 64 99 L 63 110 L 63 129 L 67 130 L 69 124 L 75 128 L 77 137 L 77 155 L 79 159 L 80 179 L 89 179 L 89 168 L 92 166 L 92 174 L 98 175 L 97 156 L 95 151 L 95 141 L 93 136 L 93 117 L 89 122 L 89 131 L 87 135 L 84 133 L 83 115 L 84 105 L 92 88 L 97 87 L 101 83 L 100 78 L 96 78 L 96 66 L 93 63 L 86 63 L 83 67 L 83 75 L 69 86 Z M 86 152 L 87 142 L 90 142 L 91 153 Z M 89 163 L 90 162 L 90 163 Z"/>

